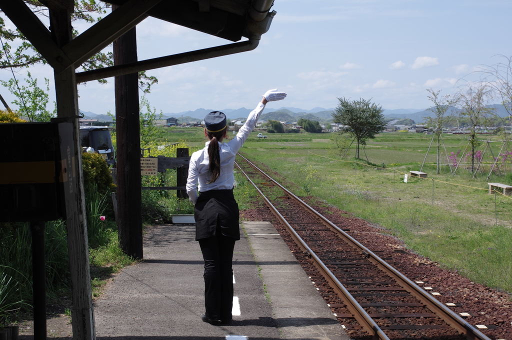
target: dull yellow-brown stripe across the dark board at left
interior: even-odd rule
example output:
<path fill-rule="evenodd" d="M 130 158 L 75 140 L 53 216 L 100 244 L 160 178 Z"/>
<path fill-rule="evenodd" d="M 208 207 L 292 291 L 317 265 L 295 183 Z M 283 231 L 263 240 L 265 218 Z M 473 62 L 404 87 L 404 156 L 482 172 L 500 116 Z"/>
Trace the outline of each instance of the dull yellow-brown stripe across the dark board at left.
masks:
<path fill-rule="evenodd" d="M 54 182 L 54 161 L 0 163 L 0 184 Z"/>

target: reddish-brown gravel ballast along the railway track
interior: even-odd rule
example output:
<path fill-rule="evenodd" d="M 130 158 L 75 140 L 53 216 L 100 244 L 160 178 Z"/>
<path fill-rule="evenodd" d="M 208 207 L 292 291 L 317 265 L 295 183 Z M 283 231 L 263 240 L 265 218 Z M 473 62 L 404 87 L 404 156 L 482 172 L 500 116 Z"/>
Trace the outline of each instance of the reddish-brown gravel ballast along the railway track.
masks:
<path fill-rule="evenodd" d="M 412 281 L 423 281 L 425 283 L 419 284 L 420 286 L 435 287 L 435 291 L 442 294 L 436 296 L 436 299 L 440 302 L 462 304 L 461 307 L 451 307 L 451 309 L 456 313 L 467 312 L 472 314 L 473 316 L 466 318 L 469 323 L 473 325 L 496 327 L 495 329 L 481 330 L 482 333 L 492 339 L 512 339 L 512 309 L 510 308 L 512 302 L 509 295 L 475 284 L 462 277 L 457 272 L 440 268 L 437 263 L 430 261 L 428 258 L 418 256 L 414 252 L 406 249 L 401 241 L 388 235 L 385 229 L 371 225 L 365 220 L 354 218 L 346 211 L 318 202 L 315 198 L 308 197 L 304 200 L 338 227 L 350 229 L 351 231 L 348 232 L 350 236 L 367 246 L 370 250 L 375 251 L 379 257 L 385 258 L 388 262 L 390 262 L 390 260 L 388 260 L 386 256 L 392 259 L 391 264 Z M 289 205 L 291 204 L 290 202 L 292 201 L 286 200 L 286 202 L 282 204 Z M 257 203 L 256 205 L 260 205 L 260 207 L 242 211 L 242 219 L 247 221 L 271 222 L 276 230 L 281 233 L 283 239 L 294 252 L 297 260 L 301 262 L 308 275 L 312 277 L 312 281 L 321 289 L 321 294 L 324 296 L 326 302 L 330 304 L 340 304 L 336 294 L 334 294 L 329 285 L 324 282 L 321 275 L 314 274 L 316 272 L 314 266 L 307 257 L 303 255 L 300 249 L 293 244 L 291 238 L 288 236 L 288 232 L 274 217 L 270 209 L 261 203 Z M 403 298 L 403 296 L 400 298 Z M 338 314 L 349 313 L 344 307 L 332 307 L 331 309 Z M 423 312 L 420 309 L 421 308 L 413 310 L 413 312 Z M 368 308 L 367 311 L 369 313 L 382 312 Z M 404 312 L 411 311 L 404 310 Z M 360 327 L 353 319 L 340 317 L 338 320 L 340 323 L 346 325 L 347 332 L 351 334 L 352 338 L 366 338 L 367 333 L 359 331 Z M 426 325 L 431 324 L 431 320 L 434 319 L 425 318 L 425 320 L 421 320 L 421 322 Z M 386 324 L 381 324 L 380 322 L 378 324 L 386 326 Z M 386 333 L 391 338 L 403 338 L 403 332 L 387 330 Z M 435 336 L 436 338 L 458 338 L 451 329 L 441 329 L 438 330 L 438 333 L 438 336 Z M 429 338 L 432 338 L 430 334 L 431 333 L 429 333 Z M 424 333 L 423 330 L 409 331 L 408 333 L 408 337 L 410 336 L 411 338 L 420 338 L 425 335 L 426 333 Z"/>

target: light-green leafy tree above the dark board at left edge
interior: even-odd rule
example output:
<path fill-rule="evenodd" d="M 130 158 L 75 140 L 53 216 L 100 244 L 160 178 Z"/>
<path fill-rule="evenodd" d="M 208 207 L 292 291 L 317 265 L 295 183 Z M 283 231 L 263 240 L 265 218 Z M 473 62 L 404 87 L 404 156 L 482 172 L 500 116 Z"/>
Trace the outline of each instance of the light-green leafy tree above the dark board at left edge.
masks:
<path fill-rule="evenodd" d="M 19 80 L 13 78 L 8 81 L 0 80 L 0 83 L 17 98 L 12 103 L 18 105 L 20 115 L 29 117 L 30 121 L 50 121 L 50 118 L 55 117 L 56 113 L 55 111 L 50 113 L 46 109 L 50 80 L 45 78 L 45 91 L 37 86 L 37 79 L 33 79 L 30 72 L 27 72 L 27 77 L 25 79 L 26 86 L 20 86 Z"/>

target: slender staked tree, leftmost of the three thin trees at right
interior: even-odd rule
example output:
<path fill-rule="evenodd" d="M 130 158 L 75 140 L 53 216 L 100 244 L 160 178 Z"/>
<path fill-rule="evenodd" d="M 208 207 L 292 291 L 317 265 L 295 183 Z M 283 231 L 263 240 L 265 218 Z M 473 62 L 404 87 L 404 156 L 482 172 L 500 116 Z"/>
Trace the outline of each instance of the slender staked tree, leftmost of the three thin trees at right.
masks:
<path fill-rule="evenodd" d="M 435 137 L 437 137 L 437 173 L 439 174 L 439 145 L 440 138 L 442 133 L 442 128 L 446 123 L 449 123 L 453 120 L 452 115 L 446 115 L 446 112 L 456 103 L 456 99 L 451 95 L 440 96 L 439 91 L 434 91 L 432 89 L 427 89 L 427 92 L 430 93 L 430 96 L 427 96 L 430 101 L 434 104 L 434 106 L 429 111 L 432 111 L 435 116 L 434 117 L 425 117 L 429 126 L 434 130 Z"/>

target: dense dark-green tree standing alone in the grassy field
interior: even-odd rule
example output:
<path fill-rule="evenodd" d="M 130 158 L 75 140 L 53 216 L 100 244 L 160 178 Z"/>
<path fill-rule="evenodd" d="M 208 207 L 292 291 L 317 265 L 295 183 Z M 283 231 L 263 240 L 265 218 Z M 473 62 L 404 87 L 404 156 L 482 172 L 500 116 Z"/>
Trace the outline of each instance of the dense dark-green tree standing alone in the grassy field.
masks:
<path fill-rule="evenodd" d="M 384 110 L 362 98 L 350 101 L 343 97 L 338 100 L 338 106 L 332 114 L 333 121 L 348 126 L 345 132 L 357 140 L 355 157 L 359 158 L 359 145 L 366 145 L 366 139 L 375 138 L 376 134 L 386 128 L 382 114 Z"/>

